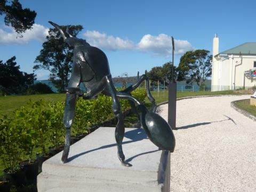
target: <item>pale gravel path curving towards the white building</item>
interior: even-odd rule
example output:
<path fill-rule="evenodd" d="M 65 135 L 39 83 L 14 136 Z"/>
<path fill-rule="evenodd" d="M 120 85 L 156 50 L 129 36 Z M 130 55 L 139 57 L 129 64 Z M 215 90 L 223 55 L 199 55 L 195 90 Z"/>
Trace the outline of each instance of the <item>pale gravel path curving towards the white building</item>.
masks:
<path fill-rule="evenodd" d="M 256 122 L 230 107 L 247 96 L 177 102 L 171 191 L 256 191 Z M 167 104 L 159 107 L 167 120 Z"/>

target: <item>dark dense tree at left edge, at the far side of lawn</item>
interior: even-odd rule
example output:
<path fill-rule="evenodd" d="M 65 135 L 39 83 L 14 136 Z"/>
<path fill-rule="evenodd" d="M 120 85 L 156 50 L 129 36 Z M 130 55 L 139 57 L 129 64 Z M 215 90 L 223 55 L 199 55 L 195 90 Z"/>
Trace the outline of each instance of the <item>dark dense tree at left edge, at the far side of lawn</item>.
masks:
<path fill-rule="evenodd" d="M 5 63 L 0 60 L 0 89 L 6 94 L 22 94 L 34 84 L 34 73 L 20 71 L 20 66 L 15 62 L 13 56 Z"/>

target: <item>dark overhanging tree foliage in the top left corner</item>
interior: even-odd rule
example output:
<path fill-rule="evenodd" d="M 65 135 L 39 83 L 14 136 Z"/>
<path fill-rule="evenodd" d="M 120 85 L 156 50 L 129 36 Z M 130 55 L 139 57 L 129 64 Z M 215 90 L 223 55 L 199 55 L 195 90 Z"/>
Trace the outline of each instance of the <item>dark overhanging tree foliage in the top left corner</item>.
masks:
<path fill-rule="evenodd" d="M 0 0 L 0 15 L 5 15 L 6 26 L 12 26 L 18 34 L 31 29 L 35 22 L 36 12 L 30 9 L 22 9 L 19 0 Z"/>

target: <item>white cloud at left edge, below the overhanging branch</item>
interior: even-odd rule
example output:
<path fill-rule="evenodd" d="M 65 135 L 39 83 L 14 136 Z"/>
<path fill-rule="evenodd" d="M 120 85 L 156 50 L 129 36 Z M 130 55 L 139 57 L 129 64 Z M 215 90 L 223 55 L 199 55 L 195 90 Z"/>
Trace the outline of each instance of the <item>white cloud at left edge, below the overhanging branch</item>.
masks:
<path fill-rule="evenodd" d="M 10 32 L 0 29 L 0 45 L 1 44 L 25 44 L 30 40 L 45 41 L 45 37 L 48 34 L 48 28 L 41 26 L 40 24 L 34 24 L 31 30 L 26 30 L 22 33 L 20 38 L 13 28 Z"/>

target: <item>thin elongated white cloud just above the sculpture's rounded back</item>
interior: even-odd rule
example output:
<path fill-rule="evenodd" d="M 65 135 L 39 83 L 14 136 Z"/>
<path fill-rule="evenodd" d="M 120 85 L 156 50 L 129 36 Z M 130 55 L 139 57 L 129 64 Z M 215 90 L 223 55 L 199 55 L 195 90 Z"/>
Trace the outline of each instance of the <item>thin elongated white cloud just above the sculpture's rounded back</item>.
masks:
<path fill-rule="evenodd" d="M 99 31 L 87 30 L 83 35 L 85 36 L 86 41 L 92 46 L 101 47 L 110 51 L 132 49 L 134 47 L 133 42 L 129 39 L 108 36 L 104 33 L 101 34 Z"/>

